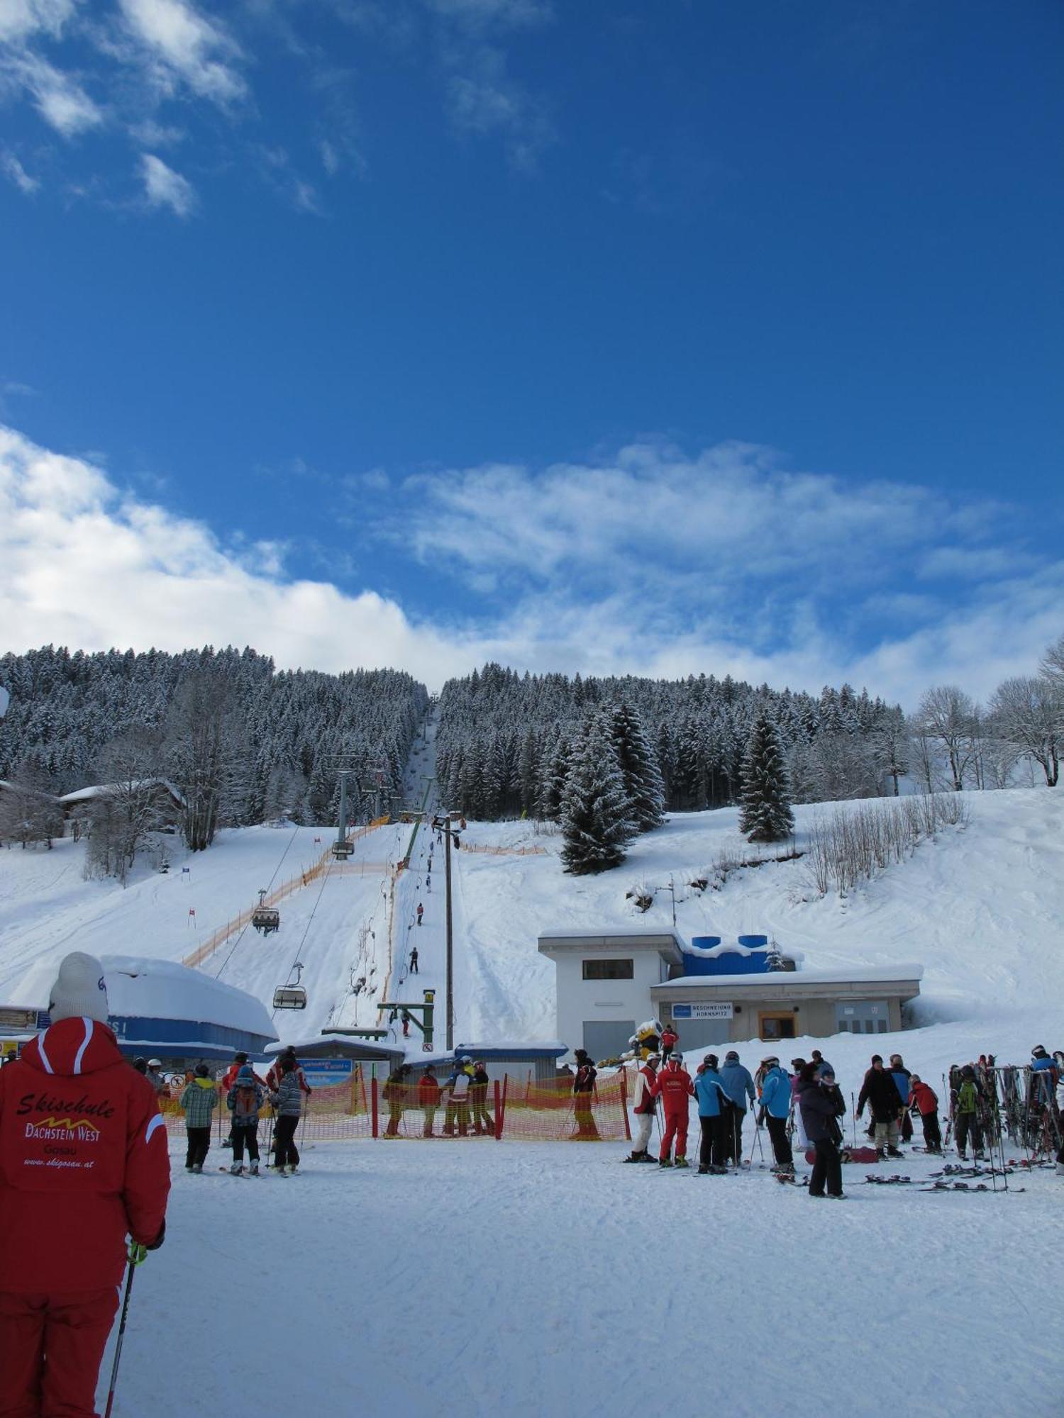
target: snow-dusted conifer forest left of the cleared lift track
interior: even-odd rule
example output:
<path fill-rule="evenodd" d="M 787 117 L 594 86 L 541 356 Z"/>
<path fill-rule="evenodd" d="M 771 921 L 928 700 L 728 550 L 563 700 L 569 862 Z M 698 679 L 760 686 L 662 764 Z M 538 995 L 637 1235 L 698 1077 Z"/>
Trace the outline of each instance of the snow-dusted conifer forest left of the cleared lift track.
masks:
<path fill-rule="evenodd" d="M 397 794 L 428 693 L 410 675 L 277 671 L 254 649 L 105 654 L 43 649 L 0 658 L 11 692 L 0 778 L 62 794 L 94 783 L 172 783 L 190 845 L 218 827 L 272 817 L 335 821 L 336 769 L 359 790 Z"/>

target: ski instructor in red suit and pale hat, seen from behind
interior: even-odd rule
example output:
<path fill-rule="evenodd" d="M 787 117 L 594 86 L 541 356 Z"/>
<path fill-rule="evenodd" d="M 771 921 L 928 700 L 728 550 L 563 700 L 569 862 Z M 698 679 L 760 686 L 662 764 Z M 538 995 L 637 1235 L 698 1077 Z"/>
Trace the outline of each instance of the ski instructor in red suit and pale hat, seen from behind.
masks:
<path fill-rule="evenodd" d="M 126 1236 L 162 1245 L 170 1159 L 155 1089 L 108 1028 L 101 963 L 67 956 L 48 1008 L 0 1069 L 0 1415 L 94 1418 Z"/>

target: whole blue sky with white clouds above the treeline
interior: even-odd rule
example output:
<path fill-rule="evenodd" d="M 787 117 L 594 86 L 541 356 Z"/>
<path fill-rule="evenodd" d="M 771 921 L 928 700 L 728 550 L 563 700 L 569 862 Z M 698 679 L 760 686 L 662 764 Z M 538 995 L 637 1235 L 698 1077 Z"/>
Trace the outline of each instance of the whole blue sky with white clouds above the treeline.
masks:
<path fill-rule="evenodd" d="M 0 0 L 4 648 L 1030 671 L 1063 61 L 1050 0 Z"/>

